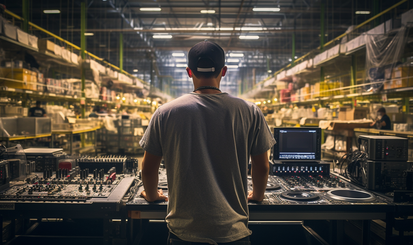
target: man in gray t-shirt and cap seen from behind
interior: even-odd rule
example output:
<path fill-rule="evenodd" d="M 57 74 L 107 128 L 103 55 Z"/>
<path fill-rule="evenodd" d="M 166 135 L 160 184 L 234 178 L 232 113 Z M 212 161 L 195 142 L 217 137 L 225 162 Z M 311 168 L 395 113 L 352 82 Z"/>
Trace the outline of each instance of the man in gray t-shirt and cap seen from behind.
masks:
<path fill-rule="evenodd" d="M 159 106 L 140 141 L 141 195 L 147 201 L 169 200 L 171 245 L 250 244 L 247 202 L 264 198 L 267 151 L 275 140 L 256 104 L 219 89 L 224 63 L 218 44 L 195 44 L 186 68 L 195 90 Z M 248 192 L 250 156 L 254 189 Z M 162 157 L 168 197 L 158 190 Z"/>

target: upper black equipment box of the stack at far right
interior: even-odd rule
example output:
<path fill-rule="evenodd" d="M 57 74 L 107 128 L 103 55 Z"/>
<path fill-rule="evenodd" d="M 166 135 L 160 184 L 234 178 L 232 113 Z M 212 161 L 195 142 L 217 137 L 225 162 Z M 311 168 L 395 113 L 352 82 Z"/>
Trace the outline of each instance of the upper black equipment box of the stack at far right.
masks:
<path fill-rule="evenodd" d="M 370 160 L 407 161 L 408 140 L 395 136 L 358 136 L 358 150 Z"/>

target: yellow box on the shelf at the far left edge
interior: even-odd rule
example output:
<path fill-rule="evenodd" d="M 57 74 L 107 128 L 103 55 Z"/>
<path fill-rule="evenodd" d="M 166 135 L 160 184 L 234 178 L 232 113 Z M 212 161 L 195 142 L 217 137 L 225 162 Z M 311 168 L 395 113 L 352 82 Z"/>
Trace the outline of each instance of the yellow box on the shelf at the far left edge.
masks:
<path fill-rule="evenodd" d="M 0 79 L 0 86 L 7 86 L 9 88 L 17 89 L 37 90 L 36 82 L 32 82 L 33 72 L 31 70 L 24 68 L 0 68 L 0 76 L 8 79 L 19 80 L 9 81 Z"/>

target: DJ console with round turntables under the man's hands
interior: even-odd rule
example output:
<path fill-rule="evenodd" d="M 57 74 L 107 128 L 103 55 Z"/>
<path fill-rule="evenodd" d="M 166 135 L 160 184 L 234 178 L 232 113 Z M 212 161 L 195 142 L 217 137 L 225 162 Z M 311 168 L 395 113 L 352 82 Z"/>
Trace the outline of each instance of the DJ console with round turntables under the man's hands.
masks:
<path fill-rule="evenodd" d="M 252 190 L 252 179 L 248 176 L 248 188 Z M 168 196 L 166 171 L 159 171 L 158 189 L 162 189 Z M 149 204 L 140 196 L 143 187 L 135 192 L 129 203 Z M 167 203 L 157 201 L 155 203 Z M 269 176 L 264 200 L 261 202 L 249 201 L 250 205 L 271 204 L 388 204 L 389 202 L 370 192 L 359 189 L 345 182 L 337 176 Z"/>

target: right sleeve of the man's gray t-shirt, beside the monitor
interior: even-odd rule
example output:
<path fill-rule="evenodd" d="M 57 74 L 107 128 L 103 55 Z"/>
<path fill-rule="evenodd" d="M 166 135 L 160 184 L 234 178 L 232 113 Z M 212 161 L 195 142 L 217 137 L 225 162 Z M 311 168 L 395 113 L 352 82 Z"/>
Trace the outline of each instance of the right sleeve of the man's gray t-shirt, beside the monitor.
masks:
<path fill-rule="evenodd" d="M 254 105 L 255 123 L 254 125 L 254 140 L 251 147 L 251 155 L 260 155 L 275 144 L 273 134 L 258 106 Z"/>

